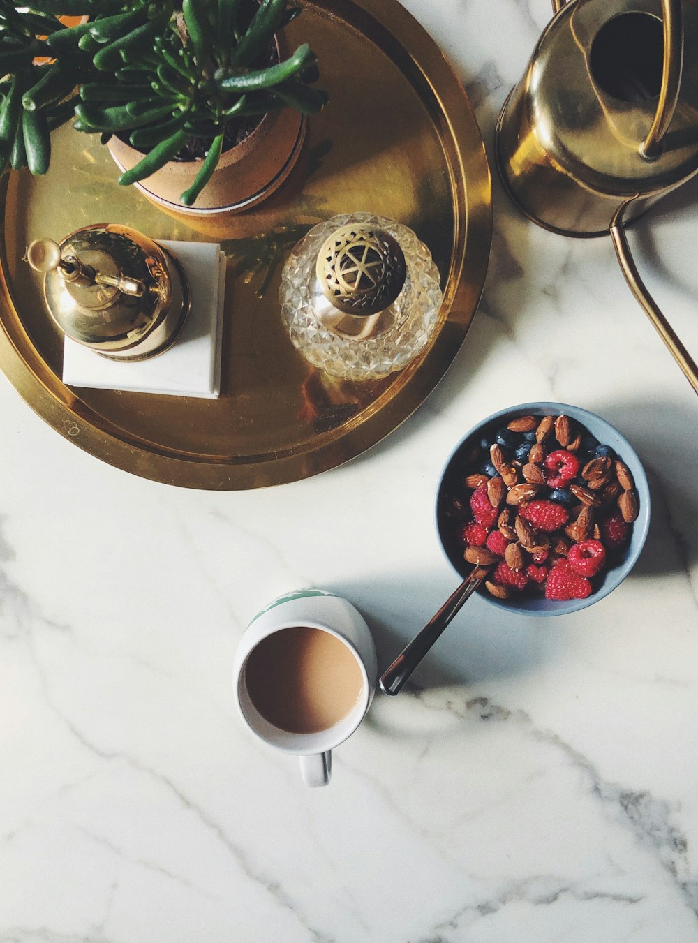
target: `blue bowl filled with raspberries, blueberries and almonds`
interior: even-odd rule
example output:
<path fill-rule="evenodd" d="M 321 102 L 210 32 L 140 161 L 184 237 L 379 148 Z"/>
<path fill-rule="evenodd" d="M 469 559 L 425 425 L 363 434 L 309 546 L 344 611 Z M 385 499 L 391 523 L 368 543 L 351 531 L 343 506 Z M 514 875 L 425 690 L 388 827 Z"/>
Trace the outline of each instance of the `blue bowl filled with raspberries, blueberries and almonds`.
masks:
<path fill-rule="evenodd" d="M 493 413 L 457 444 L 441 474 L 436 525 L 464 579 L 522 614 L 557 616 L 597 603 L 634 567 L 650 492 L 640 458 L 606 420 L 560 403 Z"/>

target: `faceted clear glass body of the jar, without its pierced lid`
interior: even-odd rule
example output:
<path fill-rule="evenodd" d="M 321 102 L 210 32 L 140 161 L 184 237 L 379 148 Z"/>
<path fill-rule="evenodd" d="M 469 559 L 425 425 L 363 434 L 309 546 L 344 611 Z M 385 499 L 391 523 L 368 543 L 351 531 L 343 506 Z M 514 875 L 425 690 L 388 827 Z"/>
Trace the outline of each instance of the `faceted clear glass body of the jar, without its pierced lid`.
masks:
<path fill-rule="evenodd" d="M 316 273 L 325 241 L 350 225 L 388 232 L 399 243 L 407 269 L 395 301 L 361 318 L 333 306 Z M 314 367 L 353 381 L 407 367 L 434 333 L 442 297 L 439 271 L 424 243 L 402 223 L 371 213 L 341 214 L 313 226 L 293 248 L 279 290 L 281 318 L 293 345 Z"/>

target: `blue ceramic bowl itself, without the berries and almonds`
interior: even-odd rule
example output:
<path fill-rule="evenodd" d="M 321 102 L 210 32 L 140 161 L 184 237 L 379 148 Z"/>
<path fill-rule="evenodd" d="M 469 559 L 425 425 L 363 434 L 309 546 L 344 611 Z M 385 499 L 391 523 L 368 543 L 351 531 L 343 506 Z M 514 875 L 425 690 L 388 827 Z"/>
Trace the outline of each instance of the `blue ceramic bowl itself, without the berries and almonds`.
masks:
<path fill-rule="evenodd" d="M 474 447 L 477 447 L 480 439 L 485 436 L 493 440 L 497 430 L 506 426 L 507 422 L 511 422 L 511 420 L 520 416 L 543 417 L 562 414 L 584 426 L 587 432 L 597 438 L 602 445 L 610 445 L 618 457 L 627 465 L 635 479 L 640 514 L 637 521 L 633 523 L 632 536 L 623 556 L 620 560 L 614 561 L 614 566 L 594 577 L 593 582 L 596 589 L 587 599 L 557 602 L 543 597 L 529 598 L 525 595 L 519 597 L 514 594 L 510 599 L 499 600 L 495 599 L 484 586 L 477 590 L 489 603 L 499 606 L 501 609 L 507 609 L 509 612 L 522 615 L 561 616 L 569 612 L 576 612 L 578 609 L 584 609 L 593 603 L 598 603 L 612 589 L 615 589 L 633 569 L 647 538 L 650 525 L 650 490 L 640 458 L 627 439 L 623 438 L 620 432 L 609 425 L 606 420 L 595 416 L 586 409 L 579 409 L 576 406 L 562 403 L 524 403 L 523 405 L 502 409 L 500 412 L 488 416 L 482 422 L 478 422 L 466 437 L 458 443 L 446 462 L 443 472 L 441 472 L 436 500 L 436 526 L 443 553 L 451 566 L 457 571 L 461 579 L 472 569 L 470 564 L 463 559 L 463 548 L 457 540 L 457 528 L 454 527 L 454 519 L 446 511 L 449 499 L 458 493 L 463 493 L 462 480 L 464 474 L 469 470 L 468 462 L 472 460 Z"/>

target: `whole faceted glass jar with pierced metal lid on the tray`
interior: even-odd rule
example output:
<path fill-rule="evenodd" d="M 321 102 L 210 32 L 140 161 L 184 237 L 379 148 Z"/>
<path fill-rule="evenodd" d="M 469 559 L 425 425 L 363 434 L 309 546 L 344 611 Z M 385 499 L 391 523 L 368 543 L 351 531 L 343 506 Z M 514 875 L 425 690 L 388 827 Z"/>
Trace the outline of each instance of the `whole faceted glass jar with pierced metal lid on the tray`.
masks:
<path fill-rule="evenodd" d="M 411 229 L 371 213 L 313 226 L 281 278 L 281 317 L 313 366 L 373 380 L 418 356 L 439 322 L 439 271 Z"/>

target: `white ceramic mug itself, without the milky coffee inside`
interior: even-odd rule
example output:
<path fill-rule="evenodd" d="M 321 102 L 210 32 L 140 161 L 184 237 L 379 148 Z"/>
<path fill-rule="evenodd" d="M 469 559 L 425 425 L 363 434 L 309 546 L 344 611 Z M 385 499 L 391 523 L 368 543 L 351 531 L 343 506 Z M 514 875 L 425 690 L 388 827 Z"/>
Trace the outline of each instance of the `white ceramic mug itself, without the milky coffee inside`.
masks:
<path fill-rule="evenodd" d="M 332 726 L 310 734 L 291 733 L 262 717 L 245 679 L 250 655 L 263 639 L 301 626 L 320 629 L 338 638 L 356 658 L 362 678 L 357 702 L 349 712 Z M 277 750 L 296 754 L 307 786 L 326 786 L 332 770 L 331 751 L 351 736 L 363 720 L 374 697 L 376 673 L 374 639 L 357 609 L 323 589 L 301 589 L 275 599 L 250 622 L 235 657 L 233 684 L 242 720 L 249 729 Z"/>

